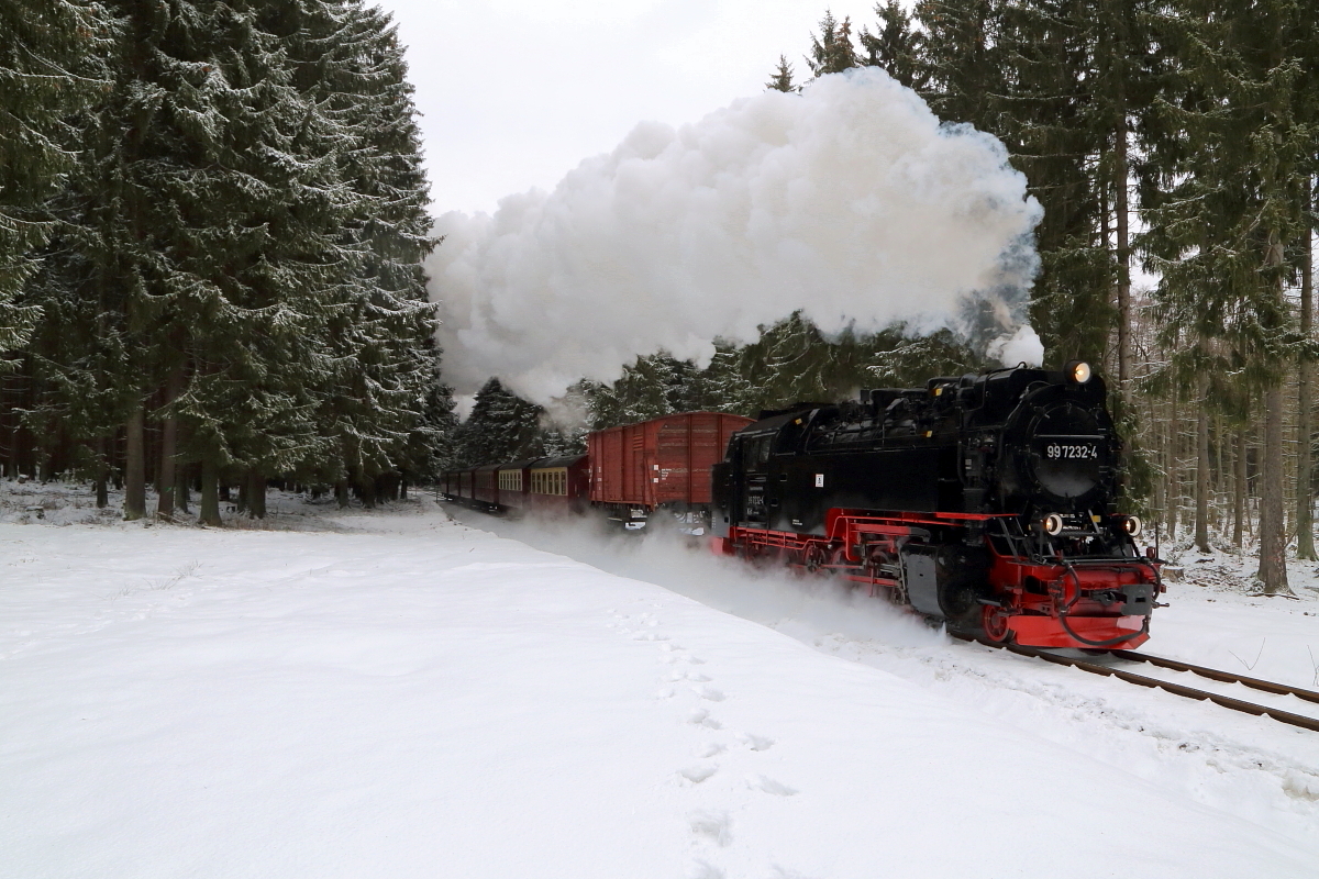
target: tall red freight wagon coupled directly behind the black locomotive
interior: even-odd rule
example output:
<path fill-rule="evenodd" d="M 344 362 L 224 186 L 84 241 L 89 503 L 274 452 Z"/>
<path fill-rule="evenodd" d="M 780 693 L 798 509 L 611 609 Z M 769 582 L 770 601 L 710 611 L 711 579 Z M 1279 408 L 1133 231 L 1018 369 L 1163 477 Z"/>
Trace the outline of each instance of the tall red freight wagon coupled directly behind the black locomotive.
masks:
<path fill-rule="evenodd" d="M 587 435 L 591 505 L 611 518 L 644 522 L 656 507 L 710 506 L 710 468 L 728 438 L 753 423 L 724 412 L 682 412 Z"/>

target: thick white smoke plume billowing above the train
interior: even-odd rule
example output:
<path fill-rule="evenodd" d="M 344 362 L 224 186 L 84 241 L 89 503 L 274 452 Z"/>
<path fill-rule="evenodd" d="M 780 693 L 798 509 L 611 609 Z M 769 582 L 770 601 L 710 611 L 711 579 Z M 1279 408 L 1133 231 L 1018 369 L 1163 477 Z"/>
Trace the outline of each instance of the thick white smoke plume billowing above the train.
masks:
<path fill-rule="evenodd" d="M 439 217 L 446 377 L 545 402 L 661 348 L 704 362 L 714 339 L 754 340 L 798 308 L 824 332 L 934 328 L 972 294 L 989 337 L 1012 337 L 1039 216 L 1002 144 L 942 125 L 873 67 L 644 123 L 553 192 Z"/>

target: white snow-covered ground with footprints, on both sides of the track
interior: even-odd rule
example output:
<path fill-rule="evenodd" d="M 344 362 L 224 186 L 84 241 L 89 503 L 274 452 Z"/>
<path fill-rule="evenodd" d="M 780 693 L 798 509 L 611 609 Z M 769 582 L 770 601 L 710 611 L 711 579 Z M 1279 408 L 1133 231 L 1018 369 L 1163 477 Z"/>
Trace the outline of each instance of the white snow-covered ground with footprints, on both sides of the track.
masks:
<path fill-rule="evenodd" d="M 1319 875 L 1319 734 L 677 540 L 272 509 L 0 525 L 0 876 Z M 1195 582 L 1150 652 L 1314 685 L 1314 590 Z"/>

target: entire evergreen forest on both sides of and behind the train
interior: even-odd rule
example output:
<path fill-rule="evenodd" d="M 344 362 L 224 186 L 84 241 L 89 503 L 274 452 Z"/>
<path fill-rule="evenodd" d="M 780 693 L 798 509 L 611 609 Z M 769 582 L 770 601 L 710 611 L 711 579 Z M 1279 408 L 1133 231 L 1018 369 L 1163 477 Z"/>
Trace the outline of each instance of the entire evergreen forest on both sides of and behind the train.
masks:
<path fill-rule="evenodd" d="M 1314 559 L 1319 28 L 1295 0 L 897 0 L 826 13 L 769 88 L 878 66 L 1004 141 L 1045 208 L 1030 320 L 1100 365 L 1132 503 L 1202 548 Z M 0 5 L 0 468 L 125 514 L 266 480 L 365 499 L 683 409 L 753 414 L 983 364 L 951 332 L 798 315 L 663 352 L 550 416 L 497 380 L 454 428 L 402 49 L 364 0 Z M 772 49 L 772 47 L 770 47 Z M 801 74 L 798 72 L 801 71 Z M 936 258 L 933 254 L 933 258 Z M 559 423 L 557 423 L 559 422 Z M 104 488 L 102 490 L 104 496 Z M 259 510 L 256 510 L 259 511 Z"/>

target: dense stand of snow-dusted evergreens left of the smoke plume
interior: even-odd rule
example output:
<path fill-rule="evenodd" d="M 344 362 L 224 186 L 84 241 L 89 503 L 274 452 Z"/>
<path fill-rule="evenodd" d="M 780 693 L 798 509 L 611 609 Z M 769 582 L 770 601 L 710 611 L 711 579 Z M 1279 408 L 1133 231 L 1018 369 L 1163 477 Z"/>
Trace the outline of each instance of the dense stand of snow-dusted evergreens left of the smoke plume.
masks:
<path fill-rule="evenodd" d="M 0 468 L 219 523 L 372 502 L 452 409 L 402 46 L 361 0 L 0 4 Z"/>

